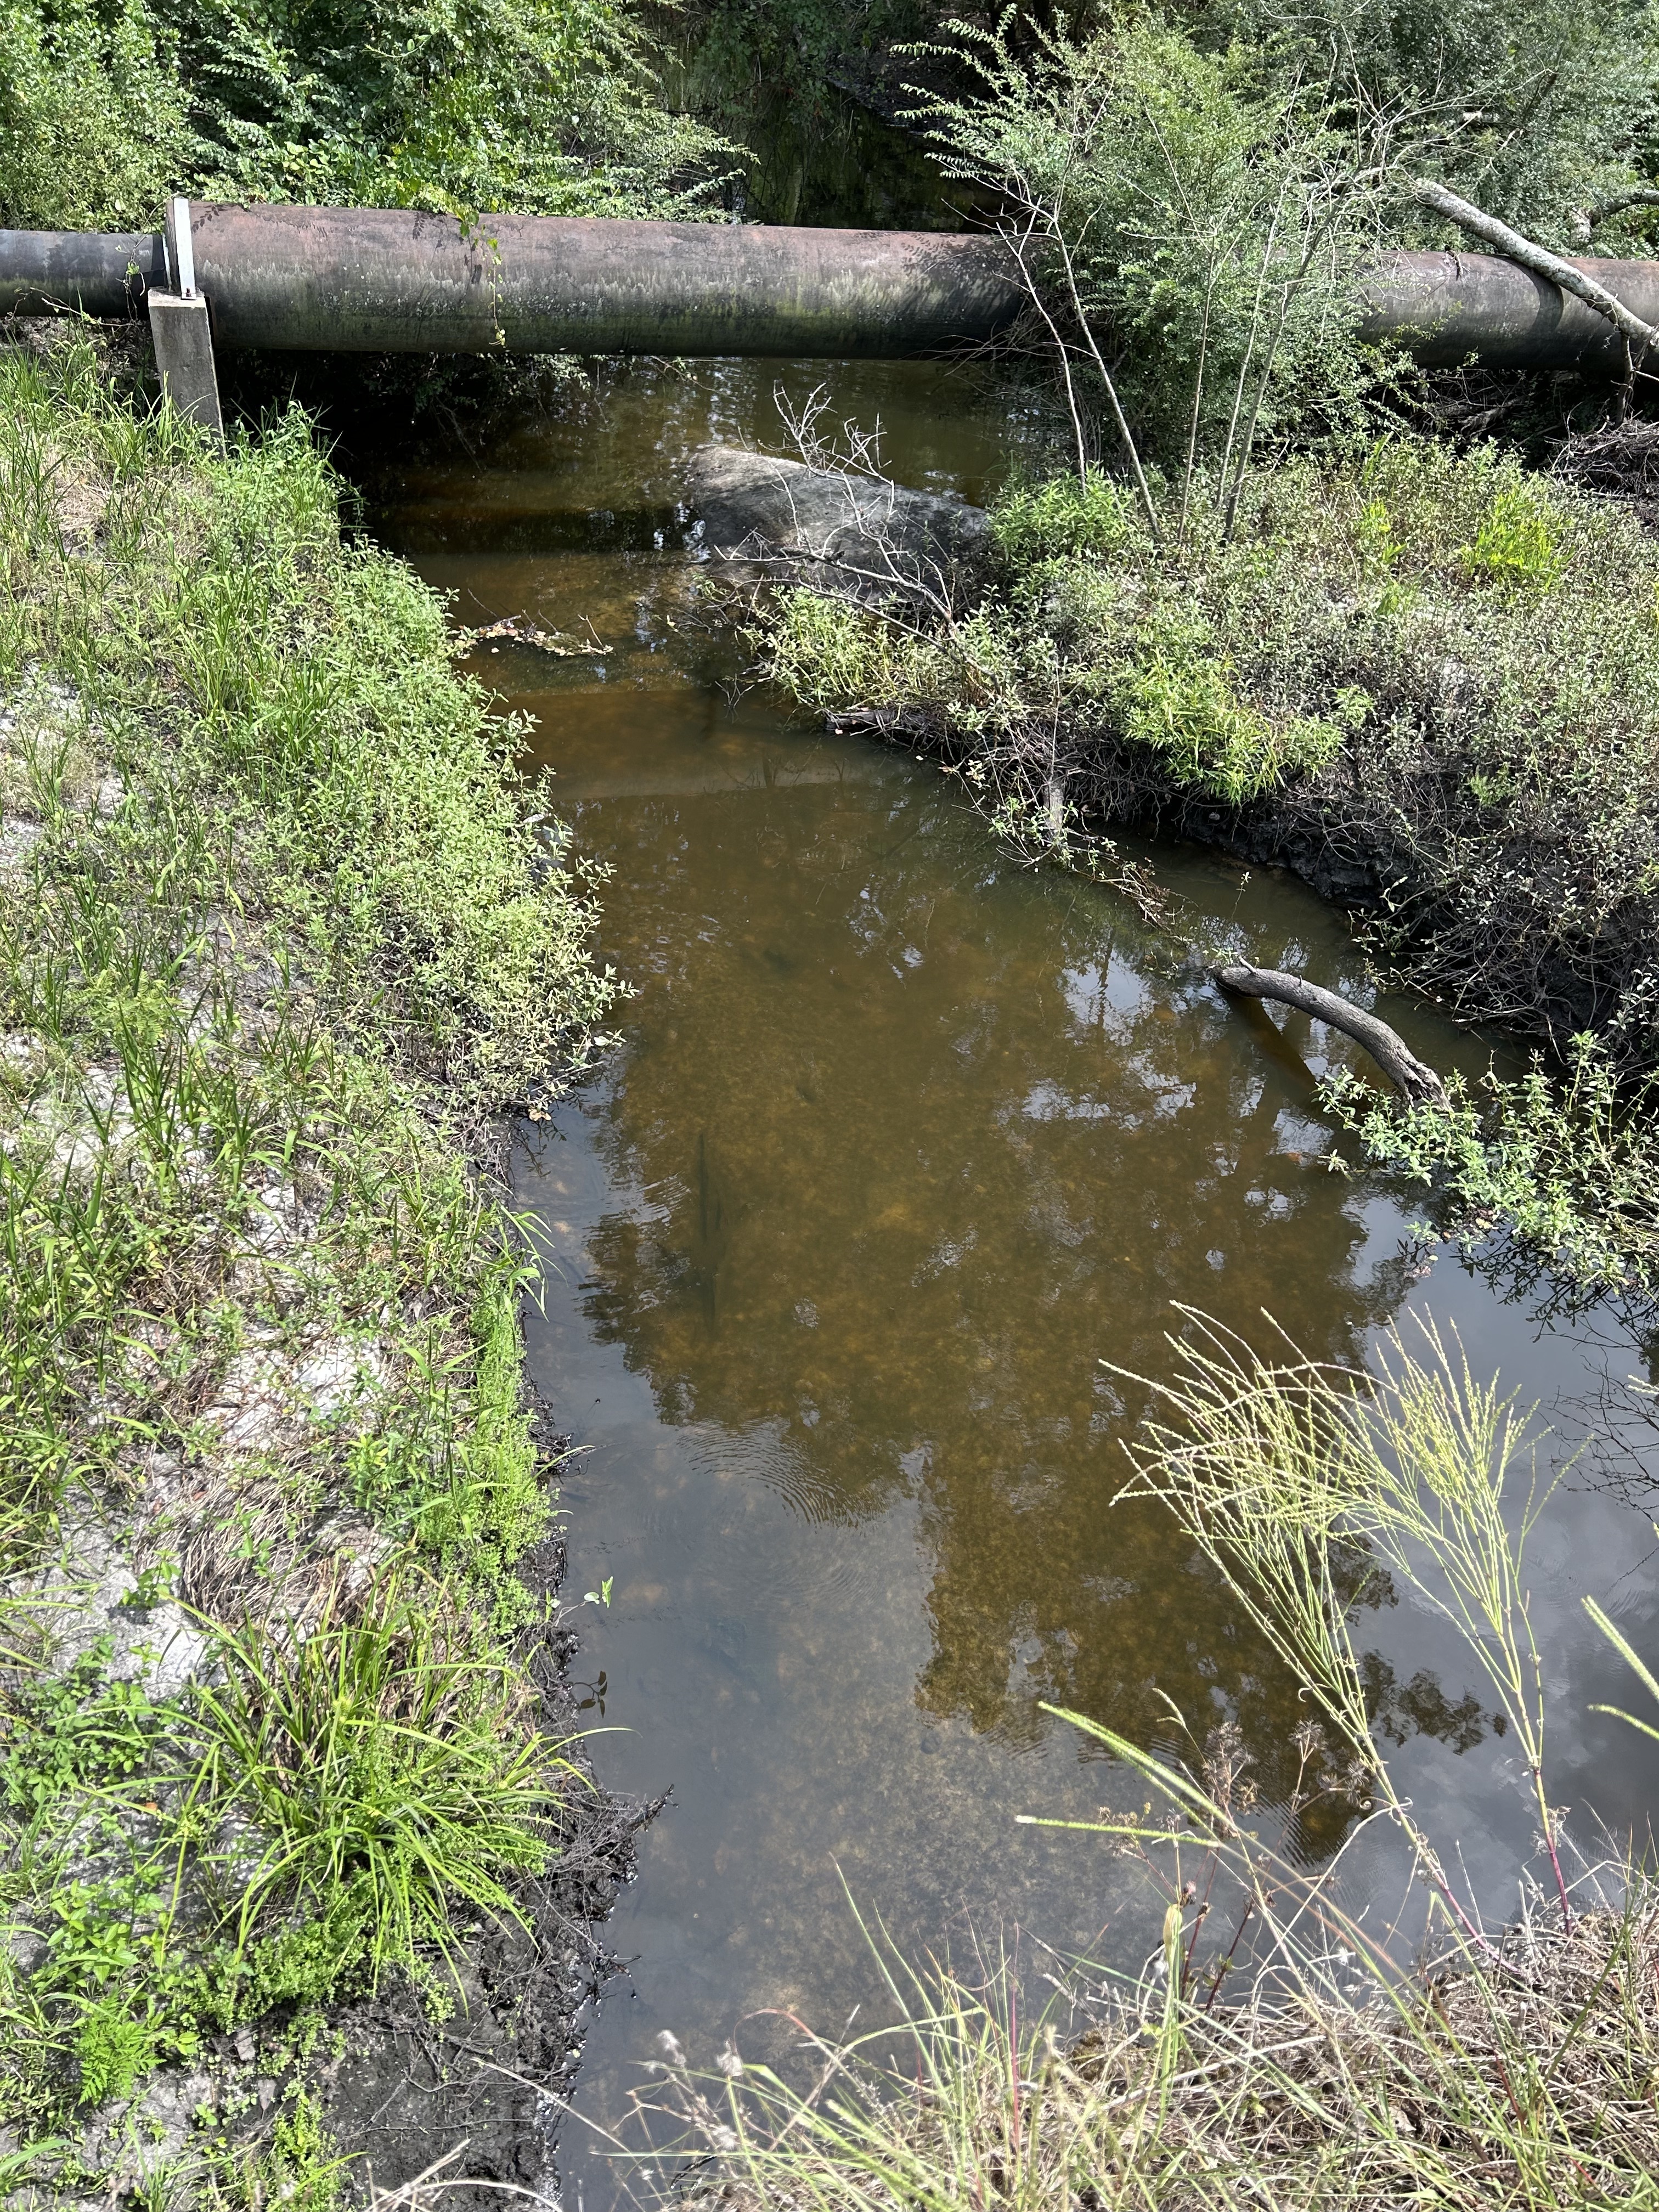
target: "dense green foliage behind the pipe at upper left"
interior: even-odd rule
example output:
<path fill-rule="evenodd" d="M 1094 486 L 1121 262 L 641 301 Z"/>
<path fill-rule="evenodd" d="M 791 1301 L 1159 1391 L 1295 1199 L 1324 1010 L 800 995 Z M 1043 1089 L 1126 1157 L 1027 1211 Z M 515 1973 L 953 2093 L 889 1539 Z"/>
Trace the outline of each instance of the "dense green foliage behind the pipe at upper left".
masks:
<path fill-rule="evenodd" d="M 613 0 L 15 0 L 0 223 L 239 199 L 684 215 L 726 148 L 670 115 Z"/>

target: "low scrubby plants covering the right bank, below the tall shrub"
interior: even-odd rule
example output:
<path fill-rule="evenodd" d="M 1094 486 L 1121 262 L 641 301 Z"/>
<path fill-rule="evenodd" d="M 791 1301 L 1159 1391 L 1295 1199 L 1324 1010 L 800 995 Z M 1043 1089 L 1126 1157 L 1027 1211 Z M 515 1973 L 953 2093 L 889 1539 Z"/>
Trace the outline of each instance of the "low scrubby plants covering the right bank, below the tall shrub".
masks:
<path fill-rule="evenodd" d="M 1015 491 L 995 533 L 982 604 L 920 633 L 783 595 L 770 672 L 814 708 L 931 714 L 1037 849 L 1057 785 L 1075 845 L 1161 821 L 1356 905 L 1449 1011 L 1573 1064 L 1451 1121 L 1356 1104 L 1371 1157 L 1588 1283 L 1659 1287 L 1659 542 L 1409 438 L 1263 476 L 1230 540 L 1199 498 L 1152 542 L 1106 482 Z"/>

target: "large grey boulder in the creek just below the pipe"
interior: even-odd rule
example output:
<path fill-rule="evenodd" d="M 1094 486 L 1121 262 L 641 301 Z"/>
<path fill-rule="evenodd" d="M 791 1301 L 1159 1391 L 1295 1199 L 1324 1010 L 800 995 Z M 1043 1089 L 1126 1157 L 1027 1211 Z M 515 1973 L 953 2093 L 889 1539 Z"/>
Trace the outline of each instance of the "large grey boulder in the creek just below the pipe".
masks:
<path fill-rule="evenodd" d="M 843 599 L 933 597 L 987 546 L 984 509 L 953 493 L 741 445 L 699 445 L 688 487 L 712 553 Z"/>

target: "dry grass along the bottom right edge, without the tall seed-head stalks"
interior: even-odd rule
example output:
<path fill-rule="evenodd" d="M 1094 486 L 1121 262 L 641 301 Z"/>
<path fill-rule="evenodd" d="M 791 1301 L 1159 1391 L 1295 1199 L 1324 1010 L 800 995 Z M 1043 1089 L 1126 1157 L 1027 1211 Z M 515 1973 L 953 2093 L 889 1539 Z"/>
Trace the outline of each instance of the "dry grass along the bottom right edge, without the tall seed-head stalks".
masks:
<path fill-rule="evenodd" d="M 914 1969 L 865 1927 L 896 2024 L 834 2037 L 770 2015 L 799 2028 L 792 2059 L 752 2064 L 732 2039 L 706 2073 L 664 2035 L 637 2099 L 650 2148 L 619 2159 L 630 2194 L 734 2212 L 1659 2203 L 1659 1893 L 1641 1869 L 1613 1869 L 1617 1896 L 1586 1878 L 1571 1927 L 1524 1918 L 1495 1958 L 1458 1929 L 1427 1962 L 1396 1958 L 1343 1909 L 1340 1856 L 1307 1869 L 1243 1827 L 1237 1763 L 1159 1761 L 1064 1719 L 1148 1790 L 1141 1816 L 1046 1823 L 1170 1863 L 1148 1969 L 1062 1969 L 1029 2004 L 1006 1949 Z M 1256 1911 L 1221 2004 L 1194 1851 Z"/>

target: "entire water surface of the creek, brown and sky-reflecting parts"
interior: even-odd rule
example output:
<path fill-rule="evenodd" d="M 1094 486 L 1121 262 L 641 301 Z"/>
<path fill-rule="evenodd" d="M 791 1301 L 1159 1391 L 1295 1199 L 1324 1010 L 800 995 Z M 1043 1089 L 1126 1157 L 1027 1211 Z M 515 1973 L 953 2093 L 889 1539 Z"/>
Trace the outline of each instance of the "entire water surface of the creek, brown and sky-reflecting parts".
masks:
<path fill-rule="evenodd" d="M 982 498 L 1042 436 L 938 369 L 787 380 L 818 376 L 883 416 L 909 482 Z M 1168 1374 L 1170 1301 L 1256 1340 L 1267 1307 L 1329 1358 L 1431 1314 L 1573 1442 L 1644 1367 L 1615 1323 L 1548 1327 L 1413 1248 L 1409 1199 L 1327 1172 L 1312 1082 L 1340 1040 L 1241 1015 L 1115 896 L 1015 867 L 933 770 L 706 679 L 681 462 L 706 436 L 781 442 L 770 387 L 768 365 L 635 369 L 409 473 L 385 515 L 460 622 L 595 646 L 476 664 L 538 717 L 635 991 L 602 1075 L 518 1159 L 555 1252 L 535 1376 L 584 1447 L 566 1595 L 613 1593 L 582 1628 L 591 1719 L 619 1730 L 595 1754 L 615 1787 L 672 1790 L 613 1924 L 637 1964 L 588 2044 L 595 2126 L 664 2028 L 708 2062 L 759 2008 L 836 2028 L 869 2002 L 849 1898 L 914 1955 L 1013 1922 L 1139 1955 L 1121 1865 L 1013 1820 L 1135 1796 L 1040 1701 L 1166 1747 L 1170 1699 L 1234 1714 L 1283 1792 L 1294 1683 L 1157 1509 L 1113 1506 L 1146 1394 L 1099 1363 Z M 1294 883 L 1155 863 L 1252 958 L 1371 998 Z M 1484 1064 L 1433 1009 L 1383 1011 L 1442 1068 Z M 1639 1692 L 1579 1610 L 1593 1593 L 1659 1650 L 1648 1495 L 1639 1460 L 1593 1449 L 1528 1553 L 1551 1798 L 1586 1836 L 1659 1803 L 1655 1747 L 1586 1712 Z M 1533 1820 L 1491 1697 L 1409 1593 L 1365 1644 L 1396 1772 L 1502 1909 Z M 591 2146 L 566 2130 L 597 2199 Z"/>

